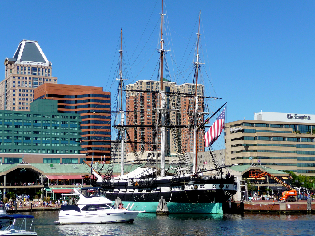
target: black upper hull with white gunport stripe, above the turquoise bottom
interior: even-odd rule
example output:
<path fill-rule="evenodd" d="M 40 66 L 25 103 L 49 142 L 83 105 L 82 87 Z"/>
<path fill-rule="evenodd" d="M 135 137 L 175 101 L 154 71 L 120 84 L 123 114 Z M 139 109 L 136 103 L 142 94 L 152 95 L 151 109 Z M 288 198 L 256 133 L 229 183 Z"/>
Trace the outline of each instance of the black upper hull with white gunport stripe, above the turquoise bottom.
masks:
<path fill-rule="evenodd" d="M 163 196 L 166 202 L 222 203 L 237 192 L 237 183 L 232 176 L 215 179 L 187 176 L 177 178 L 176 181 L 155 180 L 151 184 L 141 180 L 119 180 L 111 186 L 105 184 L 101 183 L 99 187 L 104 188 L 106 197 L 112 201 L 119 197 L 123 202 L 158 202 Z"/>

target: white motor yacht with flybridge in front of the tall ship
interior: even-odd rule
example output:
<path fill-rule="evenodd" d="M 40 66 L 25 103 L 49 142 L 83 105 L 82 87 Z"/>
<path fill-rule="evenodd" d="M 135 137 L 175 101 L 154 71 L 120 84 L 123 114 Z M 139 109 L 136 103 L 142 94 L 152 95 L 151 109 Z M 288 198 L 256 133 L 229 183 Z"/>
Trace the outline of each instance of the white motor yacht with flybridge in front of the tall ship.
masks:
<path fill-rule="evenodd" d="M 103 190 L 96 187 L 73 189 L 75 193 L 64 195 L 79 195 L 79 200 L 69 205 L 61 205 L 57 224 L 93 224 L 133 222 L 135 217 L 144 211 L 135 208 L 118 209 L 113 202 L 105 197 Z M 75 198 L 73 198 L 76 201 Z M 66 199 L 64 200 L 66 202 Z M 143 208 L 143 207 L 142 207 Z M 142 209 L 141 209 L 142 210 Z"/>

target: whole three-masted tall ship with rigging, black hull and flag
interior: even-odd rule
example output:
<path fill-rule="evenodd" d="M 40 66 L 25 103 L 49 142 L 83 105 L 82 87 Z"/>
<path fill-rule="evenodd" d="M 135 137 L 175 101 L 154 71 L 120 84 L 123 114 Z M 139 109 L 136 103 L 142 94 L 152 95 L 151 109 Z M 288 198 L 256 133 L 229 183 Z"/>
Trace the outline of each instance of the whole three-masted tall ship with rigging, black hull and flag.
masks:
<path fill-rule="evenodd" d="M 94 169 L 91 165 L 91 173 L 96 177 L 95 186 L 103 188 L 106 197 L 112 201 L 119 198 L 125 204 L 146 206 L 146 212 L 156 212 L 159 200 L 164 198 L 169 213 L 214 213 L 222 214 L 222 203 L 231 198 L 238 190 L 236 177 L 223 174 L 223 170 L 229 166 L 220 166 L 210 149 L 213 158 L 214 168 L 201 170 L 198 167 L 197 156 L 200 150 L 200 136 L 205 138 L 205 145 L 211 144 L 219 137 L 224 129 L 225 107 L 222 105 L 215 112 L 204 112 L 206 101 L 218 98 L 204 96 L 203 86 L 198 83 L 202 63 L 199 55 L 200 39 L 200 12 L 198 33 L 196 39 L 196 54 L 193 62 L 192 83 L 190 89 L 185 92 L 166 89 L 165 79 L 166 57 L 168 50 L 165 50 L 163 39 L 163 1 L 161 15 L 160 42 L 157 51 L 159 53 L 158 76 L 155 85 L 157 89 L 138 90 L 126 89 L 123 78 L 122 59 L 122 31 L 120 36 L 120 59 L 117 111 L 112 111 L 115 118 L 112 118 L 113 127 L 117 130 L 116 142 L 112 145 L 112 159 L 107 163 L 106 170 Z M 150 83 L 149 83 L 150 84 Z M 189 87 L 189 86 L 187 86 Z M 153 86 L 152 86 L 153 88 Z M 133 110 L 124 110 L 124 93 L 148 94 L 151 98 L 150 109 L 144 106 L 137 106 Z M 126 95 L 125 95 L 126 96 Z M 181 99 L 186 99 L 187 106 L 180 106 Z M 148 107 L 148 106 L 147 106 Z M 139 116 L 137 116 L 139 115 Z M 150 116 L 151 124 L 136 123 L 136 117 L 141 115 Z M 183 118 L 185 116 L 185 118 Z M 175 123 L 175 118 L 188 119 L 185 124 Z M 206 126 L 212 117 L 217 117 L 211 126 Z M 206 127 L 210 127 L 205 132 Z M 149 131 L 150 132 L 149 132 Z M 135 135 L 143 131 L 150 133 L 146 142 L 135 139 Z M 166 154 L 169 153 L 169 141 L 176 146 L 176 154 L 173 160 L 165 163 Z M 203 141 L 202 141 L 203 142 Z M 124 151 L 127 145 L 127 152 L 131 149 L 137 165 L 133 171 L 125 172 Z M 146 146 L 149 151 L 138 152 L 135 146 Z M 121 174 L 114 176 L 115 153 L 121 150 L 120 158 Z M 139 156 L 139 153 L 146 153 L 146 160 Z M 88 164 L 88 163 L 87 163 Z M 103 170 L 104 169 L 104 170 Z M 103 171 L 103 172 L 102 172 Z"/>

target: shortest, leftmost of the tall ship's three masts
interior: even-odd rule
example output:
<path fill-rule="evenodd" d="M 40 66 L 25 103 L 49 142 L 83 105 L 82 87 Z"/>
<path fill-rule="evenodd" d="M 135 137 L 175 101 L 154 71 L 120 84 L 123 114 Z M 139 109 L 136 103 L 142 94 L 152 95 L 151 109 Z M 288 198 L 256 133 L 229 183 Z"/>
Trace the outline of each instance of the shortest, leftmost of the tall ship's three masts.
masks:
<path fill-rule="evenodd" d="M 119 79 L 116 79 L 119 81 L 119 90 L 120 90 L 120 145 L 121 145 L 121 158 L 120 158 L 120 165 L 121 165 L 121 171 L 120 174 L 124 175 L 124 155 L 125 155 L 125 149 L 124 149 L 124 142 L 125 142 L 125 127 L 124 127 L 124 117 L 125 112 L 123 111 L 123 81 L 126 79 L 123 79 L 123 50 L 122 50 L 122 39 L 123 39 L 123 29 L 120 29 L 120 50 L 119 50 L 119 64 L 120 64 L 120 70 L 119 70 Z"/>

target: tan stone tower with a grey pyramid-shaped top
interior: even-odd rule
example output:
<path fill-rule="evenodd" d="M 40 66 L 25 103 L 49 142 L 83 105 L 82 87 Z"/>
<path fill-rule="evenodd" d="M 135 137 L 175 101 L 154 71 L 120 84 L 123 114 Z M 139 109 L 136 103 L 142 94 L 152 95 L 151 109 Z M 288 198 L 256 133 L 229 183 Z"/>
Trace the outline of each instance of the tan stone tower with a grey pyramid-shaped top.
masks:
<path fill-rule="evenodd" d="M 57 83 L 51 62 L 37 41 L 22 40 L 13 58 L 6 58 L 5 78 L 0 82 L 0 110 L 30 110 L 34 88 Z"/>

